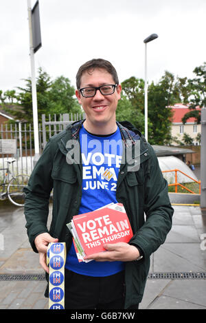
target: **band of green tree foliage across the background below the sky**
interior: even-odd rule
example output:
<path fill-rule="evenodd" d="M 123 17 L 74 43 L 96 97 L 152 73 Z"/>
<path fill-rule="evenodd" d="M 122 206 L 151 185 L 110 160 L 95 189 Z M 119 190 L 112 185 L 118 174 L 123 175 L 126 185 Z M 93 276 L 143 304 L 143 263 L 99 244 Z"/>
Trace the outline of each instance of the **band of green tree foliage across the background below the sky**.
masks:
<path fill-rule="evenodd" d="M 152 145 L 167 145 L 172 140 L 170 127 L 171 109 L 175 103 L 187 104 L 190 112 L 185 114 L 182 121 L 194 117 L 201 122 L 201 112 L 196 107 L 206 107 L 206 63 L 194 69 L 194 79 L 175 77 L 165 71 L 157 83 L 148 85 L 148 141 Z M 32 123 L 32 83 L 25 79 L 24 87 L 15 90 L 0 90 L 0 103 L 5 111 L 16 119 Z M 41 67 L 36 78 L 38 104 L 38 120 L 41 114 L 81 113 L 81 107 L 75 96 L 74 87 L 69 79 L 59 76 L 52 80 Z M 15 105 L 15 109 L 10 107 Z M 144 134 L 144 80 L 131 76 L 122 82 L 122 98 L 117 106 L 117 120 L 130 121 Z M 185 134 L 184 140 L 190 141 Z M 199 138 L 201 140 L 201 138 Z M 183 142 L 181 143 L 183 144 Z"/>

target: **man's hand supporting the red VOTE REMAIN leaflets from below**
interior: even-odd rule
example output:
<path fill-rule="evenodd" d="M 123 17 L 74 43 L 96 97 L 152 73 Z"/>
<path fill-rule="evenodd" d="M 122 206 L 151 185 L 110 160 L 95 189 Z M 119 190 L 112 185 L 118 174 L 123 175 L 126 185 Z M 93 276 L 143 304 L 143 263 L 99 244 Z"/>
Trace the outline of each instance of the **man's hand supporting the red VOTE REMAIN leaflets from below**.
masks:
<path fill-rule="evenodd" d="M 104 244 L 105 252 L 94 253 L 84 259 L 94 259 L 96 261 L 132 261 L 139 257 L 139 251 L 135 246 L 126 242 Z"/>

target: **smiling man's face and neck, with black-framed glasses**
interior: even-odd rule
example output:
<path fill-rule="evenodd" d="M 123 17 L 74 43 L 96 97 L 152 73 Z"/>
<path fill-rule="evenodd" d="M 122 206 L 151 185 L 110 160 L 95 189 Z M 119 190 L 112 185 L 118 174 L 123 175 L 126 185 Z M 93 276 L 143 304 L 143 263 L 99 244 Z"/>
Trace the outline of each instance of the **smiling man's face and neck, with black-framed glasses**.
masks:
<path fill-rule="evenodd" d="M 84 127 L 89 132 L 111 134 L 117 130 L 115 112 L 121 90 L 104 68 L 91 67 L 82 72 L 76 96 L 87 116 Z"/>

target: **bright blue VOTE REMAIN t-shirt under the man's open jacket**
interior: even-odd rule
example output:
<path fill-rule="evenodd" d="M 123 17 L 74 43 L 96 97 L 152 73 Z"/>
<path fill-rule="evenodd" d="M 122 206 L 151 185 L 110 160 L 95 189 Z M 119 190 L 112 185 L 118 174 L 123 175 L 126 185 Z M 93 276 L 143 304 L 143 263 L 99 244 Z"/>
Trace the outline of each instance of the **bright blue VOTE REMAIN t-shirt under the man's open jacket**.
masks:
<path fill-rule="evenodd" d="M 117 202 L 117 178 L 122 160 L 122 137 L 119 127 L 110 136 L 95 136 L 89 134 L 83 126 L 80 129 L 80 147 L 82 200 L 79 214 L 82 214 Z M 78 262 L 72 244 L 65 267 L 81 275 L 103 277 L 124 270 L 124 262 Z"/>

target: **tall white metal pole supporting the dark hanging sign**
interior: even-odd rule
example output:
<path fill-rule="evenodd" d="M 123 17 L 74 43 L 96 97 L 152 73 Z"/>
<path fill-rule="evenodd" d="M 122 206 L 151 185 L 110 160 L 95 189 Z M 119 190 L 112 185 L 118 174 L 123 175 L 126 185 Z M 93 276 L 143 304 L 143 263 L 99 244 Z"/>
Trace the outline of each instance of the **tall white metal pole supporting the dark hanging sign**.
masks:
<path fill-rule="evenodd" d="M 36 79 L 35 79 L 35 65 L 34 65 L 34 46 L 32 38 L 32 8 L 31 0 L 27 0 L 28 20 L 30 30 L 30 62 L 32 74 L 32 107 L 33 107 L 33 124 L 34 124 L 34 163 L 39 158 L 39 140 L 38 140 L 38 108 L 37 108 L 37 95 L 36 95 Z"/>

